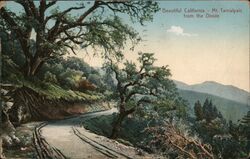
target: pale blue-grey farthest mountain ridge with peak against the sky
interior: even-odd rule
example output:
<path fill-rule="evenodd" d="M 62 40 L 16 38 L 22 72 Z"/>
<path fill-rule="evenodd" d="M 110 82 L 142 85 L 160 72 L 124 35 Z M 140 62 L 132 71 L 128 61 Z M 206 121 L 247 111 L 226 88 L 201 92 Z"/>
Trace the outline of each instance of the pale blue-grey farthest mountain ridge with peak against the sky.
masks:
<path fill-rule="evenodd" d="M 194 85 L 188 85 L 180 81 L 175 81 L 175 84 L 178 89 L 207 93 L 246 104 L 248 106 L 250 105 L 250 93 L 232 85 L 223 85 L 213 81 L 206 81 L 201 84 Z"/>

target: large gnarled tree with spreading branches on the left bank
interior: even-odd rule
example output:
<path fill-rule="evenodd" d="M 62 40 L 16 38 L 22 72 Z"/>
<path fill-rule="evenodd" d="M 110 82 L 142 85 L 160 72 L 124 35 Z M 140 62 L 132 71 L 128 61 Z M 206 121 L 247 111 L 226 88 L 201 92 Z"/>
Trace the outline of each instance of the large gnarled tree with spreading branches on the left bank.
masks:
<path fill-rule="evenodd" d="M 0 30 L 11 32 L 18 39 L 25 64 L 22 71 L 26 76 L 35 75 L 49 59 L 62 56 L 80 46 L 103 50 L 102 55 L 121 57 L 119 50 L 131 40 L 138 42 L 138 33 L 124 24 L 117 16 L 127 14 L 133 22 L 144 24 L 159 10 L 156 2 L 144 1 L 102 1 L 82 2 L 65 10 L 55 8 L 57 0 L 15 0 L 24 13 L 16 14 L 5 7 L 0 9 Z M 58 7 L 58 6 L 57 6 Z M 50 13 L 49 13 L 50 11 Z M 79 15 L 74 15 L 75 12 Z M 111 15 L 107 15 L 110 13 Z M 113 14 L 112 14 L 113 13 Z M 35 32 L 34 49 L 31 48 L 31 35 Z M 96 51 L 97 52 L 97 51 Z"/>

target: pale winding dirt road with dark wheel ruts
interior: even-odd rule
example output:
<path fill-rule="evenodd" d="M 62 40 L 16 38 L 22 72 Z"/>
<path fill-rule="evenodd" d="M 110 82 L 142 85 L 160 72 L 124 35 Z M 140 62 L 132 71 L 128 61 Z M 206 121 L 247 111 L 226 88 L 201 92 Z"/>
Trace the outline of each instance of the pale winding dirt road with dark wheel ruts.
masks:
<path fill-rule="evenodd" d="M 110 109 L 87 113 L 42 125 L 36 134 L 39 142 L 35 144 L 38 151 L 39 149 L 46 149 L 39 155 L 40 158 L 156 158 L 145 152 L 138 152 L 134 147 L 96 135 L 80 124 L 86 119 L 110 115 L 116 111 L 116 109 Z M 46 157 L 44 153 L 54 155 L 48 155 L 53 157 Z"/>

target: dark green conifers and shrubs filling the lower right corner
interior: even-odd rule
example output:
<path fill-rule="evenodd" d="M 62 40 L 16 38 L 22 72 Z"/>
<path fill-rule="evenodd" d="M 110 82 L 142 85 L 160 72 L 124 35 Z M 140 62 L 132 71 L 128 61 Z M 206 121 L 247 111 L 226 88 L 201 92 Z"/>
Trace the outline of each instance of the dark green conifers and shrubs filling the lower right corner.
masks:
<path fill-rule="evenodd" d="M 193 129 L 204 142 L 213 147 L 213 153 L 217 157 L 234 159 L 247 156 L 247 134 L 249 133 L 242 124 L 236 125 L 232 121 L 229 124 L 226 123 L 221 113 L 208 99 L 203 107 L 196 102 L 195 112 L 199 120 L 194 123 Z"/>

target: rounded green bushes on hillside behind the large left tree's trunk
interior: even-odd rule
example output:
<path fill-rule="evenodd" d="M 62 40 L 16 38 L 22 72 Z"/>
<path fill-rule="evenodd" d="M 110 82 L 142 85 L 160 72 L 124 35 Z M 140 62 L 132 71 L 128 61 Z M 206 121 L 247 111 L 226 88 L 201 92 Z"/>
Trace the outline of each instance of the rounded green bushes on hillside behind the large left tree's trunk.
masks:
<path fill-rule="evenodd" d="M 47 72 L 55 75 L 57 83 L 66 89 L 77 89 L 81 80 L 88 80 L 97 86 L 96 91 L 105 92 L 107 90 L 107 84 L 99 71 L 80 58 L 68 57 L 50 60 L 43 65 L 37 76 L 44 78 Z"/>

